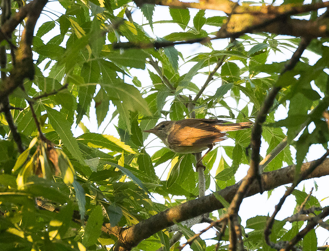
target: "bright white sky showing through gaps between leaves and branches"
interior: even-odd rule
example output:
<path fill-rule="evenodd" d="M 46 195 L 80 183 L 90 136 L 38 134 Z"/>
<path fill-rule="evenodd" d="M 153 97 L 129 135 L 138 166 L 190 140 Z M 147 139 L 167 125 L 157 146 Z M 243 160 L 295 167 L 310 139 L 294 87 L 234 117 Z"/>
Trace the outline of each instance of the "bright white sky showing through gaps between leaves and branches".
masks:
<path fill-rule="evenodd" d="M 52 12 L 54 10 L 56 10 L 59 13 L 64 13 L 65 10 L 58 5 L 58 2 L 49 2 L 47 4 L 47 8 L 51 9 Z M 190 9 L 190 14 L 191 14 L 191 19 L 190 19 L 190 26 L 193 26 L 192 20 L 193 20 L 193 16 L 197 13 L 198 10 L 195 9 Z M 56 13 L 56 12 L 55 12 Z M 57 13 L 59 16 L 60 14 Z M 57 19 L 56 16 L 51 15 L 50 13 L 46 12 L 45 14 L 50 15 L 53 19 Z M 206 11 L 206 17 L 209 16 L 214 16 L 214 15 L 224 15 L 222 12 L 220 11 Z M 41 25 L 42 22 L 44 21 L 49 21 L 50 19 L 48 17 L 46 17 L 45 15 L 41 16 L 42 18 L 38 20 L 38 24 Z M 139 9 L 134 9 L 133 13 L 132 13 L 132 17 L 133 20 L 135 22 L 138 22 L 140 24 L 142 23 L 147 23 L 146 19 L 142 16 L 141 12 Z M 163 6 L 157 6 L 155 8 L 155 12 L 154 12 L 154 16 L 153 16 L 153 21 L 159 21 L 159 20 L 171 20 L 171 16 L 169 14 L 168 8 L 167 7 L 163 7 Z M 207 31 L 216 31 L 216 27 L 213 26 L 207 26 L 205 25 L 203 27 L 204 29 L 206 29 Z M 154 24 L 154 34 L 152 32 L 152 30 L 150 29 L 150 27 L 148 25 L 144 26 L 144 29 L 146 32 L 148 32 L 148 34 L 150 36 L 157 36 L 157 37 L 164 37 L 167 34 L 170 34 L 172 32 L 180 32 L 182 31 L 182 29 L 177 25 L 177 24 L 172 24 L 172 23 L 167 23 L 167 24 Z M 47 42 L 50 38 L 52 38 L 53 36 L 59 34 L 59 26 L 56 25 L 56 27 L 49 32 L 48 34 L 46 34 L 43 39 L 45 42 Z M 280 38 L 284 39 L 287 38 L 287 36 L 281 36 Z M 228 41 L 226 39 L 223 40 L 216 40 L 213 41 L 213 46 L 215 49 L 224 49 L 228 44 Z M 199 52 L 210 52 L 210 49 L 207 48 L 206 46 L 200 45 L 200 44 L 187 44 L 187 45 L 178 45 L 176 46 L 176 48 L 181 51 L 184 55 L 184 57 L 199 53 Z M 274 55 L 274 53 L 272 53 L 271 57 L 269 58 L 269 60 L 272 61 L 276 61 L 276 62 L 281 62 L 286 60 L 287 58 L 290 58 L 292 53 L 289 50 L 283 50 L 284 53 L 277 53 L 276 55 Z M 310 64 L 313 65 L 318 59 L 319 57 L 317 55 L 315 55 L 314 53 L 311 52 L 304 52 L 303 54 L 304 57 L 308 57 L 310 59 Z M 47 63 L 44 62 L 44 64 Z M 180 61 L 180 63 L 182 63 L 182 61 Z M 267 63 L 271 63 L 270 61 Z M 44 66 L 44 64 L 41 64 L 40 68 L 42 68 L 42 66 Z M 190 68 L 194 65 L 195 63 L 187 63 L 184 64 L 182 67 L 180 67 L 179 72 L 181 74 L 186 73 L 188 70 L 190 70 Z M 147 66 L 147 68 L 153 72 L 154 69 L 151 66 Z M 212 69 L 211 69 L 212 70 Z M 130 70 L 130 73 L 133 76 L 137 76 L 139 78 L 139 80 L 142 82 L 142 86 L 149 86 L 151 85 L 151 80 L 147 74 L 147 70 Z M 146 74 L 145 74 L 146 73 Z M 48 72 L 45 72 L 45 74 L 48 74 Z M 203 85 L 203 83 L 205 82 L 207 76 L 202 75 L 202 74 L 198 74 L 195 77 L 193 77 L 192 82 L 194 82 L 195 84 L 197 84 L 199 87 L 201 87 Z M 127 78 L 128 79 L 128 78 Z M 205 90 L 205 94 L 215 94 L 216 89 L 221 85 L 221 80 L 216 80 L 214 81 L 212 84 L 210 84 L 206 90 Z M 99 87 L 97 88 L 97 91 L 99 90 Z M 318 89 L 315 88 L 316 91 L 318 91 Z M 187 92 L 188 93 L 188 92 Z M 323 95 L 320 93 L 321 97 L 323 97 Z M 228 95 L 227 95 L 228 96 Z M 226 96 L 225 96 L 226 97 Z M 244 96 L 243 94 L 241 95 L 241 97 L 244 100 L 249 100 L 246 96 Z M 246 102 L 241 101 L 239 104 L 236 104 L 235 100 L 233 98 L 227 97 L 225 99 L 227 101 L 227 103 L 231 106 L 231 107 L 236 107 L 239 110 L 242 109 Z M 94 103 L 93 103 L 94 105 Z M 170 108 L 170 102 L 168 102 L 166 104 L 166 106 L 164 107 L 164 110 L 169 110 Z M 109 124 L 109 120 L 112 117 L 112 113 L 114 112 L 115 108 L 114 106 L 111 104 L 110 105 L 110 111 L 108 113 L 108 116 L 105 118 L 105 121 L 101 124 L 101 126 L 99 128 L 97 128 L 97 123 L 96 123 L 96 115 L 95 115 L 95 110 L 94 109 L 90 109 L 90 120 L 87 118 L 87 116 L 84 116 L 83 118 L 83 123 L 89 128 L 89 130 L 91 132 L 98 132 L 98 133 L 104 133 L 104 134 L 111 134 L 114 135 L 116 137 L 118 137 L 117 131 L 114 127 L 114 125 L 117 123 L 117 120 L 113 120 L 111 124 Z M 249 109 L 251 110 L 251 109 Z M 225 109 L 220 109 L 218 108 L 216 111 L 216 114 L 220 114 L 220 115 L 228 115 L 228 112 Z M 282 105 L 279 107 L 279 109 L 277 110 L 277 112 L 275 113 L 275 119 L 276 120 L 280 120 L 283 118 L 287 117 L 287 110 L 285 107 L 283 107 Z M 167 119 L 169 120 L 169 117 L 167 117 Z M 164 119 L 163 119 L 164 120 Z M 309 126 L 308 128 L 310 131 L 312 131 L 314 129 L 314 125 L 312 127 L 312 124 Z M 74 126 L 72 127 L 73 133 L 75 136 L 81 135 L 83 132 L 82 130 L 77 127 L 76 129 L 74 128 Z M 149 143 L 151 140 L 155 139 L 155 135 L 150 135 L 148 137 L 148 139 L 145 142 L 145 145 L 147 143 Z M 221 145 L 233 145 L 234 144 L 234 140 L 233 139 L 228 139 L 225 140 L 223 142 L 221 142 Z M 161 141 L 159 139 L 155 139 L 152 141 L 152 143 L 149 144 L 149 147 L 146 149 L 146 151 L 152 155 L 154 152 L 156 152 L 157 150 L 161 149 L 162 147 L 164 147 L 164 144 L 161 143 Z M 268 147 L 268 144 L 265 141 L 262 141 L 262 147 L 261 147 L 261 155 L 263 157 L 265 157 L 266 154 L 266 149 Z M 293 154 L 293 157 L 295 155 L 295 150 L 293 148 L 291 148 L 291 152 Z M 307 154 L 307 159 L 308 161 L 314 160 L 319 158 L 322 154 L 324 154 L 325 150 L 321 145 L 312 145 L 310 148 L 309 153 Z M 213 176 L 215 176 L 215 171 L 216 171 L 216 167 L 219 164 L 219 160 L 221 157 L 221 153 L 223 153 L 223 157 L 226 160 L 227 163 L 231 164 L 232 160 L 229 159 L 229 157 L 224 153 L 224 151 L 218 151 L 217 154 L 217 159 L 215 161 L 214 164 L 214 170 L 211 171 L 211 174 Z M 166 162 L 162 165 L 159 165 L 155 171 L 156 173 L 160 176 L 163 172 L 164 169 L 166 168 L 166 166 L 168 166 L 170 163 Z M 240 165 L 235 178 L 236 181 L 240 181 L 247 173 L 248 170 L 248 166 L 247 165 Z M 168 174 L 169 168 L 167 168 L 167 172 L 165 172 L 162 180 L 165 180 Z M 317 199 L 319 201 L 321 201 L 321 206 L 327 206 L 328 205 L 328 199 L 325 199 L 328 195 L 327 195 L 327 189 L 328 189 L 328 181 L 327 181 L 327 177 L 322 177 L 322 178 L 318 178 L 318 179 L 314 179 L 314 180 L 308 180 L 305 182 L 301 182 L 301 184 L 298 186 L 299 190 L 303 189 L 303 186 L 305 186 L 305 191 L 308 193 L 312 187 L 314 187 L 314 181 L 316 181 L 317 185 L 318 185 L 318 190 L 313 191 L 313 195 L 317 197 Z M 211 190 L 215 190 L 215 184 L 214 181 L 212 181 L 211 186 L 210 186 Z M 274 191 L 272 192 L 271 197 L 269 198 L 269 200 L 267 199 L 267 192 L 265 192 L 263 195 L 257 194 L 254 195 L 252 197 L 246 198 L 243 200 L 241 207 L 240 207 L 240 211 L 239 211 L 239 215 L 242 219 L 242 226 L 245 226 L 245 222 L 248 218 L 250 217 L 254 217 L 256 215 L 267 215 L 272 214 L 274 211 L 274 207 L 275 205 L 279 202 L 280 198 L 282 197 L 282 195 L 285 192 L 285 187 L 284 186 L 280 186 L 276 189 L 274 189 Z M 210 191 L 206 191 L 206 194 L 211 193 Z M 157 197 L 158 201 L 161 201 L 161 198 Z M 251 206 L 252 205 L 252 206 Z M 296 203 L 295 203 L 295 198 L 294 196 L 289 196 L 285 202 L 285 204 L 283 205 L 281 211 L 278 213 L 276 219 L 278 220 L 283 220 L 284 218 L 291 216 L 293 213 L 293 209 L 295 207 Z M 197 224 L 195 226 L 192 227 L 192 229 L 195 232 L 198 232 L 204 228 L 206 228 L 208 226 L 208 224 Z M 285 225 L 285 228 L 290 229 L 291 228 L 291 224 L 287 223 Z M 318 237 L 318 245 L 323 245 L 325 244 L 327 238 L 328 238 L 328 232 L 322 228 L 318 228 L 316 229 L 316 233 L 317 233 L 317 237 Z M 214 230 L 209 230 L 207 233 L 202 235 L 203 238 L 208 239 L 208 238 L 212 238 L 215 237 L 215 231 Z M 182 243 L 184 243 L 184 239 L 182 239 Z M 207 244 L 210 243 L 215 243 L 215 241 L 209 240 L 207 241 Z M 190 250 L 190 247 L 185 247 L 184 250 Z"/>

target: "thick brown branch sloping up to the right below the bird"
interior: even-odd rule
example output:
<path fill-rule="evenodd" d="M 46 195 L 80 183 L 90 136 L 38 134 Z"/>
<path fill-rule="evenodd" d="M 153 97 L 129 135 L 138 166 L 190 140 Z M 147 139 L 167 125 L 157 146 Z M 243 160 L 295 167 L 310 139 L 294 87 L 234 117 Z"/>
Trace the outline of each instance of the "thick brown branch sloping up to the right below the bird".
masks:
<path fill-rule="evenodd" d="M 315 160 L 316 161 L 316 160 Z M 301 173 L 309 168 L 315 161 L 304 163 L 301 166 Z M 264 189 L 271 190 L 280 185 L 288 184 L 295 179 L 295 165 L 288 166 L 279 170 L 263 173 Z M 310 175 L 305 179 L 316 178 L 329 175 L 329 159 L 325 159 Z M 241 181 L 235 185 L 228 186 L 223 190 L 216 192 L 226 201 L 231 202 L 237 192 Z M 254 181 L 245 197 L 252 196 L 260 192 L 258 182 Z M 149 219 L 143 220 L 129 228 L 123 228 L 121 232 L 122 240 L 117 243 L 115 250 L 130 250 L 140 241 L 146 239 L 158 231 L 174 225 L 176 222 L 182 222 L 189 218 L 202 215 L 223 208 L 223 205 L 216 199 L 214 194 L 191 200 L 171 209 L 160 212 Z"/>

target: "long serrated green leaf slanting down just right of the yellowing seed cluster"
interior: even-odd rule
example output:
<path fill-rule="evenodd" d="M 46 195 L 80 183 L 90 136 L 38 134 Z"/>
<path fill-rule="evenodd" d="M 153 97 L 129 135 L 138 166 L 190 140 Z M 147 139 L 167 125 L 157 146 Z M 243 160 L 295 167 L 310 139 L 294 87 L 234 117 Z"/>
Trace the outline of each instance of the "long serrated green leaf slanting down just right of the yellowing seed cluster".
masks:
<path fill-rule="evenodd" d="M 50 124 L 53 126 L 55 131 L 58 133 L 61 140 L 63 140 L 66 149 L 76 158 L 82 165 L 85 165 L 85 161 L 82 158 L 79 150 L 78 143 L 73 137 L 71 132 L 71 125 L 66 121 L 65 117 L 61 112 L 51 109 L 45 106 Z"/>

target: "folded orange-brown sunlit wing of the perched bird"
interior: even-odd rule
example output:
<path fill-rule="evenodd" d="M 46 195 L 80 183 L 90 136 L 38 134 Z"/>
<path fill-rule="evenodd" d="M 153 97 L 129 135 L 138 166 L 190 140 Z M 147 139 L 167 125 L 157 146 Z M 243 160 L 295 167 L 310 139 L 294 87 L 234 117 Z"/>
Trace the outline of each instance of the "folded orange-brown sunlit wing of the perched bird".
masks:
<path fill-rule="evenodd" d="M 208 145 L 226 139 L 226 133 L 220 132 L 215 125 L 200 122 L 193 127 L 186 123 L 176 124 L 175 130 L 169 134 L 168 143 L 179 146 Z"/>

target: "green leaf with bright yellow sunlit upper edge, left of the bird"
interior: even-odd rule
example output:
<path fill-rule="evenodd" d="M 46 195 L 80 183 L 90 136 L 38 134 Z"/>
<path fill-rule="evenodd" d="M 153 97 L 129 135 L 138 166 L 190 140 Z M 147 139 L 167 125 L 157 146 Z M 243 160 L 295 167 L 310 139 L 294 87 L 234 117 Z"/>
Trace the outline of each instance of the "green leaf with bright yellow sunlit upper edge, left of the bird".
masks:
<path fill-rule="evenodd" d="M 77 138 L 77 140 L 80 143 L 92 148 L 108 149 L 118 153 L 122 153 L 122 151 L 136 153 L 130 146 L 126 145 L 112 135 L 89 132 L 82 134 Z"/>

